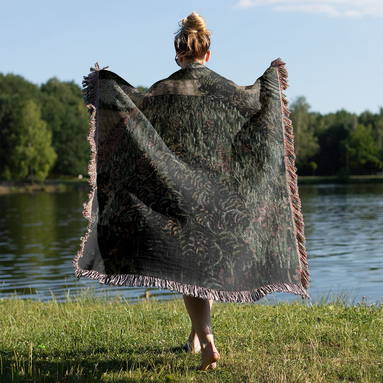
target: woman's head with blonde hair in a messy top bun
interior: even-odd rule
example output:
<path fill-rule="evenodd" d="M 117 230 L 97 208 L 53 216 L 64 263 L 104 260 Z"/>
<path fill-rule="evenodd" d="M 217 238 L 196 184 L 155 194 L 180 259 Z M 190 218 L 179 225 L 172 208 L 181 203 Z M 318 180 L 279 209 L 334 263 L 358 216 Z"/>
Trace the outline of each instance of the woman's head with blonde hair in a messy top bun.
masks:
<path fill-rule="evenodd" d="M 211 32 L 206 29 L 206 23 L 202 16 L 193 12 L 178 23 L 180 29 L 174 38 L 175 50 L 186 61 L 199 61 L 205 59 L 210 48 Z"/>

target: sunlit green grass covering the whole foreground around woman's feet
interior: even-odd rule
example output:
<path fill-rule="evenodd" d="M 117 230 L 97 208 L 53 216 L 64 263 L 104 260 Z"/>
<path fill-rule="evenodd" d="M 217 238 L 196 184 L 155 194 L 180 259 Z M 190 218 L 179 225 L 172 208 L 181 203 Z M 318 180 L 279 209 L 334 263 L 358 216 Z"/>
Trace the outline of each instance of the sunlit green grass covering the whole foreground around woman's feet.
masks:
<path fill-rule="evenodd" d="M 382 305 L 214 303 L 218 368 L 182 345 L 182 300 L 0 301 L 2 382 L 382 382 Z"/>

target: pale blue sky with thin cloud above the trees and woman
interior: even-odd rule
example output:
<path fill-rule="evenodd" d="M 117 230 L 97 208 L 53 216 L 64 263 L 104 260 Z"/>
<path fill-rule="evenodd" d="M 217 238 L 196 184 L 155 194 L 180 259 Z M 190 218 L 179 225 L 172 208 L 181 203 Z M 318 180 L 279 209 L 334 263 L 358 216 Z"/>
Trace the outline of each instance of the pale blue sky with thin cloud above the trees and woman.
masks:
<path fill-rule="evenodd" d="M 322 114 L 383 105 L 381 0 L 0 0 L 0 70 L 80 85 L 98 61 L 149 87 L 178 70 L 174 32 L 192 11 L 213 33 L 207 66 L 239 85 L 281 57 L 290 101 Z"/>

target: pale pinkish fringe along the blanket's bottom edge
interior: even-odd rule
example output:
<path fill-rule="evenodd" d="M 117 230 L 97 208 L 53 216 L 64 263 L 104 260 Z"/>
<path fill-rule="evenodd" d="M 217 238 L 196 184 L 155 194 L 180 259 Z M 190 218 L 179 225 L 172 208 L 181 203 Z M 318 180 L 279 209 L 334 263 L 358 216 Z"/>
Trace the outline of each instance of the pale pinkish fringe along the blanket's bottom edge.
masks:
<path fill-rule="evenodd" d="M 272 283 L 254 290 L 223 291 L 204 288 L 184 283 L 173 282 L 161 278 L 146 277 L 143 275 L 105 275 L 94 270 L 75 270 L 75 277 L 97 279 L 102 285 L 117 285 L 130 287 L 157 287 L 174 291 L 178 294 L 195 296 L 202 299 L 213 299 L 221 302 L 252 303 L 272 293 L 290 293 L 301 295 L 302 299 L 310 299 L 307 291 L 295 283 Z"/>

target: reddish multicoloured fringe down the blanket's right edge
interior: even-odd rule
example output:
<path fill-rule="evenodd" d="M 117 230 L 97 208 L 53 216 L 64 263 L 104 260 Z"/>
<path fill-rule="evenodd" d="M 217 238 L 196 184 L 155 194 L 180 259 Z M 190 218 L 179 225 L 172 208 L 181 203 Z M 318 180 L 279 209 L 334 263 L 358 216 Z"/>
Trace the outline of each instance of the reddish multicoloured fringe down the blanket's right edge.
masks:
<path fill-rule="evenodd" d="M 285 65 L 286 63 L 283 62 L 280 57 L 271 63 L 271 66 L 277 69 L 280 84 L 283 125 L 285 132 L 284 141 L 287 182 L 290 188 L 291 205 L 294 214 L 295 234 L 299 250 L 298 255 L 301 266 L 301 283 L 304 286 L 304 288 L 308 289 L 310 274 L 308 271 L 306 247 L 304 246 L 306 239 L 304 237 L 304 223 L 303 216 L 301 213 L 301 200 L 298 195 L 298 177 L 296 175 L 295 167 L 296 156 L 294 152 L 293 125 L 291 124 L 291 120 L 288 118 L 288 116 L 290 115 L 290 111 L 288 110 L 288 101 L 285 94 L 282 92 L 283 90 L 286 90 L 289 86 L 287 83 L 288 73 Z"/>

